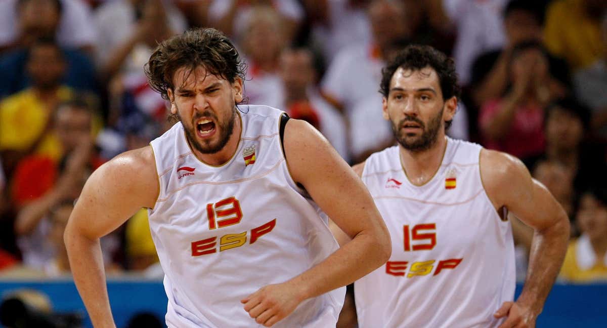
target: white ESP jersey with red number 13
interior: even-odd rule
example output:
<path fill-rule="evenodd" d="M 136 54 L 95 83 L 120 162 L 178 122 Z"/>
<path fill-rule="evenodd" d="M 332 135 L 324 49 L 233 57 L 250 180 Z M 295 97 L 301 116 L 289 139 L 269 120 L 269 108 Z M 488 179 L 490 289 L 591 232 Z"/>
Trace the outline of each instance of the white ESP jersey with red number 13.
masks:
<path fill-rule="evenodd" d="M 149 221 L 164 270 L 169 327 L 261 327 L 240 300 L 337 249 L 322 212 L 288 173 L 282 111 L 239 109 L 242 135 L 225 165 L 198 160 L 181 123 L 151 143 L 160 196 Z M 307 299 L 274 327 L 335 327 L 344 295 L 342 288 Z"/>

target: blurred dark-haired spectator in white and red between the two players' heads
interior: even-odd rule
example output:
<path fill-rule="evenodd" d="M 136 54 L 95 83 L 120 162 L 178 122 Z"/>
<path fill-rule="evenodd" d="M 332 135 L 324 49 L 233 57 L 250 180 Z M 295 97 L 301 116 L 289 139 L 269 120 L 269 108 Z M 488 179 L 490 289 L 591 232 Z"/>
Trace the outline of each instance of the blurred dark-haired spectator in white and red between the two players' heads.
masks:
<path fill-rule="evenodd" d="M 344 118 L 320 96 L 316 87 L 318 71 L 309 49 L 287 49 L 280 56 L 280 77 L 284 91 L 283 108 L 292 118 L 306 120 L 327 137 L 347 161 L 347 130 Z"/>

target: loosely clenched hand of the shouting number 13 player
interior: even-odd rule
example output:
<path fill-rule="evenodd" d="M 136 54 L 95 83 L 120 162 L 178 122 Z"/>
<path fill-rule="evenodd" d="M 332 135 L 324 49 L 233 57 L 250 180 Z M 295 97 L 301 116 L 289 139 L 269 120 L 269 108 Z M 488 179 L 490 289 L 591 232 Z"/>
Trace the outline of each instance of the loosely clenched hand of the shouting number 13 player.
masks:
<path fill-rule="evenodd" d="M 299 295 L 300 289 L 282 284 L 267 285 L 240 302 L 245 304 L 245 311 L 251 318 L 265 327 L 271 327 L 290 315 L 304 298 Z"/>

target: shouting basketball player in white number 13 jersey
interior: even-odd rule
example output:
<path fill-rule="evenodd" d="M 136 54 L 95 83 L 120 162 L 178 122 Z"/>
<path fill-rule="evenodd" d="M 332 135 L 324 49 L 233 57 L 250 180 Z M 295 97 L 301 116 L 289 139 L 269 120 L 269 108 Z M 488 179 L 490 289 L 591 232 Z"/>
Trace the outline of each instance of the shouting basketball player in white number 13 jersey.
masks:
<path fill-rule="evenodd" d="M 164 41 L 146 73 L 180 122 L 95 171 L 66 229 L 93 325 L 114 327 L 99 237 L 147 207 L 169 327 L 334 327 L 339 287 L 390 256 L 361 180 L 308 123 L 237 106 L 243 64 L 217 30 Z M 353 237 L 345 247 L 321 209 Z"/>

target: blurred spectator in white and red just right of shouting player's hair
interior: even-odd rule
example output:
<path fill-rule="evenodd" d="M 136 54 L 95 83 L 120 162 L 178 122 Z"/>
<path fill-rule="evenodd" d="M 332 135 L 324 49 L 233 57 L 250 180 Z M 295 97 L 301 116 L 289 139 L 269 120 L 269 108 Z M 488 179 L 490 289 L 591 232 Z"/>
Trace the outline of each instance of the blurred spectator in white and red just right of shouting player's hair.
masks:
<path fill-rule="evenodd" d="M 280 108 L 280 52 L 285 47 L 285 25 L 276 10 L 257 6 L 250 10 L 242 35 L 246 70 L 245 96 L 249 104 Z"/>

